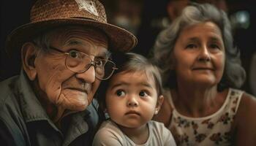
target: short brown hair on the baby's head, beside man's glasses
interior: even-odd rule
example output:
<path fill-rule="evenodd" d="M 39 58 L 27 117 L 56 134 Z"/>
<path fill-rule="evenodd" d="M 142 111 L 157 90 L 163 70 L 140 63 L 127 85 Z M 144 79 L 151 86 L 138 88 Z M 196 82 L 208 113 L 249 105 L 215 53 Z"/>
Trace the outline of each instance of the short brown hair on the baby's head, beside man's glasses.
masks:
<path fill-rule="evenodd" d="M 115 52 L 112 53 L 112 60 L 115 62 L 116 68 L 118 68 L 115 70 L 113 75 L 120 72 L 145 72 L 147 77 L 154 77 L 157 96 L 162 95 L 162 79 L 159 69 L 143 55 L 136 53 Z M 105 108 L 105 93 L 112 77 L 110 77 L 108 80 L 102 81 L 99 85 L 96 99 L 99 102 L 99 107 L 101 108 Z"/>

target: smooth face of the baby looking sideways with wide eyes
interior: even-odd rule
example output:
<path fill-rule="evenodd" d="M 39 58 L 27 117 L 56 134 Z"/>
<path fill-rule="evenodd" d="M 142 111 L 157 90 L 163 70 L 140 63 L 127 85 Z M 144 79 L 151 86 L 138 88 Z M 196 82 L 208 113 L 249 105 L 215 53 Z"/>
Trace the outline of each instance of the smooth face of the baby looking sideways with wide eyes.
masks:
<path fill-rule="evenodd" d="M 159 110 L 157 99 L 153 77 L 147 77 L 145 72 L 113 75 L 105 97 L 110 118 L 127 128 L 138 128 L 151 120 Z"/>

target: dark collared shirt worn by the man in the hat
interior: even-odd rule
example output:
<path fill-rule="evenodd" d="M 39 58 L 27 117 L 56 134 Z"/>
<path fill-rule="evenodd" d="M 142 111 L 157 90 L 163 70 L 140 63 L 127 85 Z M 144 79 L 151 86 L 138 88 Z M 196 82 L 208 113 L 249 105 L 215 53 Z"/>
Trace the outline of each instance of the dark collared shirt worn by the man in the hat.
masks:
<path fill-rule="evenodd" d="M 23 71 L 19 76 L 0 82 L 0 142 L 6 145 L 90 145 L 99 122 L 97 101 L 64 120 L 67 122 L 60 131 L 43 109 Z"/>

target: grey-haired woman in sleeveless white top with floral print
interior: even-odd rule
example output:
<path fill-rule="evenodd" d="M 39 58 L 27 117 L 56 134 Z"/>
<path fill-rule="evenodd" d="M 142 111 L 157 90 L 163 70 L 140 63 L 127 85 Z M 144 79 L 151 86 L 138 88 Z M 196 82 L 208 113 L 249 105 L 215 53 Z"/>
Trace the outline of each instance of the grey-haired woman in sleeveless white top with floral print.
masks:
<path fill-rule="evenodd" d="M 256 101 L 237 89 L 246 75 L 225 12 L 186 7 L 157 37 L 153 60 L 168 89 L 155 120 L 177 145 L 256 145 Z"/>

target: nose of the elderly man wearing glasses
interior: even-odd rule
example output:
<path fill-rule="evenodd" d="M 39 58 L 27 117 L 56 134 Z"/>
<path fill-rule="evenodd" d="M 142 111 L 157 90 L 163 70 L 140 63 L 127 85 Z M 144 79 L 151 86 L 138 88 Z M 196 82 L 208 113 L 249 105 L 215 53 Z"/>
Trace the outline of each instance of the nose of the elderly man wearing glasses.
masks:
<path fill-rule="evenodd" d="M 84 82 L 92 83 L 95 81 L 95 69 L 94 66 L 90 66 L 86 72 L 76 73 L 76 77 L 83 80 Z"/>

